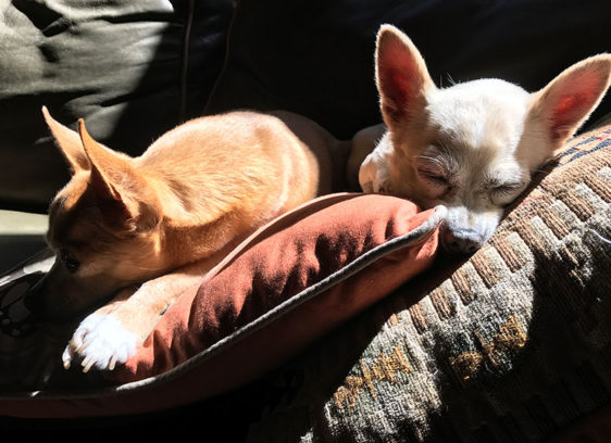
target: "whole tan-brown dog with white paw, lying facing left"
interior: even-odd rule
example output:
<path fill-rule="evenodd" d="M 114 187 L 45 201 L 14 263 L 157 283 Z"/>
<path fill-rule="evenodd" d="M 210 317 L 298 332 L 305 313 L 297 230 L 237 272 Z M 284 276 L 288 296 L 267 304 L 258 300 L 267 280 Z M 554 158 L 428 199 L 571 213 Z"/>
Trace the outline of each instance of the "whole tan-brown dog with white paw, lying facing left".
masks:
<path fill-rule="evenodd" d="M 197 118 L 139 157 L 45 119 L 72 167 L 50 206 L 53 267 L 26 299 L 45 317 L 87 316 L 64 354 L 113 369 L 160 315 L 233 248 L 279 214 L 341 186 L 349 144 L 278 112 Z"/>

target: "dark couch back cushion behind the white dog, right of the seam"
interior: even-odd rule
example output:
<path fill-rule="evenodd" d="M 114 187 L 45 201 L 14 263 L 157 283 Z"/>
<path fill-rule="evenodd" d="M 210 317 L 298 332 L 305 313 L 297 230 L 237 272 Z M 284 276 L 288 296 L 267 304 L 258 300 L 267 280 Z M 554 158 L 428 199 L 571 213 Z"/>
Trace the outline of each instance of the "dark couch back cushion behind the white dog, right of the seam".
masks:
<path fill-rule="evenodd" d="M 534 91 L 610 51 L 610 16 L 608 0 L 242 0 L 205 111 L 280 107 L 350 138 L 381 122 L 374 48 L 383 23 L 413 39 L 438 86 L 498 77 Z"/>

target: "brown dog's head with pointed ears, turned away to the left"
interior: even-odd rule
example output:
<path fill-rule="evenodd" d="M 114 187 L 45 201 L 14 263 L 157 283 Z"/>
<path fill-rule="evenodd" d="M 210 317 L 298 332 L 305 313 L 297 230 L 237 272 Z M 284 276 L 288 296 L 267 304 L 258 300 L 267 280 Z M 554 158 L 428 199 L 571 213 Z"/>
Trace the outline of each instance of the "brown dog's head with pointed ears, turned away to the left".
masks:
<path fill-rule="evenodd" d="M 158 200 L 134 160 L 45 119 L 72 179 L 49 208 L 47 241 L 55 263 L 26 298 L 45 317 L 65 317 L 108 300 L 117 289 L 159 274 Z"/>

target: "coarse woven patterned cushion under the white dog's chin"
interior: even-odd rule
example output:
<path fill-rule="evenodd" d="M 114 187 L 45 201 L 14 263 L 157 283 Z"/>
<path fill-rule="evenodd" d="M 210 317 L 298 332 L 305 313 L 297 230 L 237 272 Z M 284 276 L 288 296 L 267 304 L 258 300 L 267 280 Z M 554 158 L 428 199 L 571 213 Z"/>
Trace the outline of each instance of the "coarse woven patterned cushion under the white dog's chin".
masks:
<path fill-rule="evenodd" d="M 611 126 L 557 163 L 465 263 L 437 261 L 288 365 L 302 382 L 251 441 L 540 442 L 608 405 Z"/>

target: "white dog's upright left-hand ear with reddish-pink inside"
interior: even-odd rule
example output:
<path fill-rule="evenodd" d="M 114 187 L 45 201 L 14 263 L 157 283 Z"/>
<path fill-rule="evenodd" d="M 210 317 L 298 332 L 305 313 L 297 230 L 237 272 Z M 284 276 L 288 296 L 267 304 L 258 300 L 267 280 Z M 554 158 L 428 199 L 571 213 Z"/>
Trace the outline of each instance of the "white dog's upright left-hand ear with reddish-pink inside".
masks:
<path fill-rule="evenodd" d="M 412 40 L 395 26 L 382 25 L 377 33 L 375 69 L 382 116 L 390 129 L 423 111 L 435 84 Z"/>

